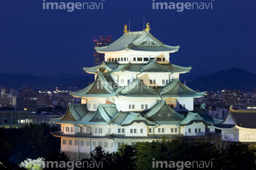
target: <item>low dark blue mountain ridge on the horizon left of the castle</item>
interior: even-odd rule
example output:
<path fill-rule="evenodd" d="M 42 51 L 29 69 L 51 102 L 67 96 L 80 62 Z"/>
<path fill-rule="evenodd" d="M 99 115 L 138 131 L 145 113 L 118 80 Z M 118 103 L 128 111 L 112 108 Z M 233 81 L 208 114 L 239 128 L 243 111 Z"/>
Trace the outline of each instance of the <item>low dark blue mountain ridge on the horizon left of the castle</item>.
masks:
<path fill-rule="evenodd" d="M 0 74 L 0 84 L 9 89 L 59 90 L 83 89 L 94 81 L 93 74 L 58 74 L 55 76 L 34 76 L 31 74 Z"/>

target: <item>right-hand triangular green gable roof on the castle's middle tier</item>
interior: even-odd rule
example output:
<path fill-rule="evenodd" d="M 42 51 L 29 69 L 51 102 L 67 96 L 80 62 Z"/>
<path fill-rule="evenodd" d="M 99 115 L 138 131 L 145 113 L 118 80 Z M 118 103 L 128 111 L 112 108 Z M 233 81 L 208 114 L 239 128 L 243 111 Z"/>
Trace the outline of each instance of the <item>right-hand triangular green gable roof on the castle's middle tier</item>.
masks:
<path fill-rule="evenodd" d="M 160 91 L 160 96 L 162 97 L 201 97 L 205 92 L 197 93 L 193 91 L 188 86 L 179 81 L 179 79 L 172 79 L 169 84 L 166 84 L 164 88 Z"/>

